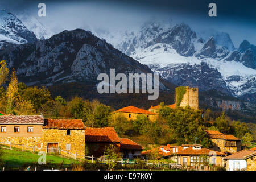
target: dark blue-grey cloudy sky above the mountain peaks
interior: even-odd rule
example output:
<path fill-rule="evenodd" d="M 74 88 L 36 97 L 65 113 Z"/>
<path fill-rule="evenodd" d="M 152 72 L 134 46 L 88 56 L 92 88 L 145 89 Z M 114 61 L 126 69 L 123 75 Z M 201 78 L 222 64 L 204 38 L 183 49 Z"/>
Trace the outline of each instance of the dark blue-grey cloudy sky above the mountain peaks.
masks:
<path fill-rule="evenodd" d="M 47 16 L 38 17 L 38 3 L 46 3 Z M 208 16 L 210 2 L 217 4 L 217 17 Z M 128 29 L 142 25 L 146 20 L 171 19 L 185 22 L 194 31 L 213 28 L 228 32 L 234 46 L 242 40 L 256 44 L 256 1 L 164 1 L 164 0 L 105 0 L 105 1 L 14 1 L 1 0 L 1 9 L 14 15 L 24 13 L 37 16 L 54 32 L 75 28 L 96 27 L 109 31 Z"/>

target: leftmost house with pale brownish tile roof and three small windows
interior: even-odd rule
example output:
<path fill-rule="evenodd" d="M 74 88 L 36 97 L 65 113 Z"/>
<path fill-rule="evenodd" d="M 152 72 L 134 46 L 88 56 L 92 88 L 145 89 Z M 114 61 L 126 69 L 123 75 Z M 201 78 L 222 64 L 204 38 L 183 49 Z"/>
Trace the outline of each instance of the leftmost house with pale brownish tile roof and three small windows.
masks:
<path fill-rule="evenodd" d="M 22 144 L 28 147 L 41 143 L 44 118 L 41 115 L 2 115 L 0 117 L 0 142 Z"/>

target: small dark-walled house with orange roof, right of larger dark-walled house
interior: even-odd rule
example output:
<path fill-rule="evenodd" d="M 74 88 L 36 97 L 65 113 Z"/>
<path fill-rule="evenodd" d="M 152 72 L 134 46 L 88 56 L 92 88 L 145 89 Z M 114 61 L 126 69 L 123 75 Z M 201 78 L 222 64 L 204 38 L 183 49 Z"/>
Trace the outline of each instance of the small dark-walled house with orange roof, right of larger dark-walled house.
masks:
<path fill-rule="evenodd" d="M 133 142 L 128 138 L 121 138 L 120 151 L 122 158 L 137 158 L 141 157 L 143 147 L 138 143 Z"/>

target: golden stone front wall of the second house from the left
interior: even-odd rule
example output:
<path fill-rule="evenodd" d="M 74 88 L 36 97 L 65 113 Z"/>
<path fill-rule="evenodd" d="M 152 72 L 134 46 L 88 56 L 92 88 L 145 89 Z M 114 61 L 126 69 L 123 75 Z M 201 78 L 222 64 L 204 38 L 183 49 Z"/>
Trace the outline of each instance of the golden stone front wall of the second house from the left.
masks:
<path fill-rule="evenodd" d="M 77 158 L 84 159 L 85 155 L 85 130 L 70 130 L 70 135 L 67 135 L 67 130 L 57 129 L 43 129 L 42 143 L 46 148 L 48 143 L 58 143 L 58 147 L 61 150 L 67 151 L 66 144 L 70 144 L 68 152 L 75 154 L 77 152 Z M 64 156 L 74 158 L 73 154 L 68 154 L 61 151 Z M 79 156 L 82 155 L 82 156 Z"/>

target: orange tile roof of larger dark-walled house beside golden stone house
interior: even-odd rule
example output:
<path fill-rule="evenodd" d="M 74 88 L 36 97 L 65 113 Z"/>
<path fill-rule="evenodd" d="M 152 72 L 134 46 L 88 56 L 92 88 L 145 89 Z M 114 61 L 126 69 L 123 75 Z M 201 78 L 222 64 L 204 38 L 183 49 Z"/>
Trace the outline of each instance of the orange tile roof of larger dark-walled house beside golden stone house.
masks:
<path fill-rule="evenodd" d="M 120 143 L 121 138 L 115 132 L 114 127 L 92 128 L 85 129 L 85 142 L 112 142 Z"/>

